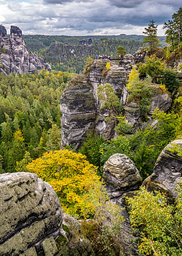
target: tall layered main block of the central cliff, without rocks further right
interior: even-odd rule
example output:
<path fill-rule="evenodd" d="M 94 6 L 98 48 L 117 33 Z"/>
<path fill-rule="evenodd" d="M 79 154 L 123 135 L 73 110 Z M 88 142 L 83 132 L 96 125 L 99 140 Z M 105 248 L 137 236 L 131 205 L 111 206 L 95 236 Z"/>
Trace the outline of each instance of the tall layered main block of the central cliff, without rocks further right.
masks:
<path fill-rule="evenodd" d="M 106 69 L 107 62 L 110 69 Z M 106 122 L 111 115 L 109 109 L 101 109 L 97 88 L 110 83 L 115 94 L 126 102 L 126 71 L 109 59 L 96 59 L 88 66 L 84 75 L 78 75 L 68 83 L 61 97 L 62 145 L 74 145 L 77 149 L 85 141 L 88 132 L 97 131 L 105 139 L 114 137 L 115 122 Z"/>

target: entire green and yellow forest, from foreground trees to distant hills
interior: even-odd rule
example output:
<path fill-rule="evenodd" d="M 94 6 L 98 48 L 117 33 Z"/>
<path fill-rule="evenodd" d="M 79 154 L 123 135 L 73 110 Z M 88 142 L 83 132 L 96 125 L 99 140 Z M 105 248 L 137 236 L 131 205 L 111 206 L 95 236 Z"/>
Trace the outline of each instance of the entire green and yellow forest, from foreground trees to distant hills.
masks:
<path fill-rule="evenodd" d="M 172 105 L 167 113 L 155 110 L 152 115 L 157 121 L 155 126 L 148 123 L 135 133 L 125 122 L 125 111 L 117 95 L 113 95 L 107 85 L 109 94 L 102 101 L 118 111 L 115 117 L 118 119 L 115 127 L 117 137 L 105 141 L 102 135 L 89 134 L 78 151 L 72 147 L 63 149 L 60 98 L 75 73 L 82 73 L 87 57 L 94 58 L 100 53 L 115 54 L 118 46 L 125 47 L 126 53 L 134 54 L 142 46 L 140 41 L 123 39 L 122 35 L 121 38 L 95 37 L 92 45 L 81 46 L 82 37 L 25 36 L 27 46 L 31 45 L 32 50 L 51 63 L 53 71 L 35 71 L 32 75 L 0 74 L 0 173 L 34 172 L 55 189 L 65 213 L 77 219 L 96 217 L 98 237 L 90 236 L 98 256 L 119 255 L 117 252 L 111 254 L 111 246 L 108 245 L 114 244 L 110 237 L 122 234 L 121 226 L 117 224 L 125 221 L 117 206 L 105 205 L 109 198 L 101 178 L 104 163 L 115 153 L 126 154 L 144 181 L 152 173 L 164 147 L 182 138 L 182 86 L 179 79 L 182 66 L 180 64 L 178 69 L 173 69 L 173 60 L 182 56 L 181 14 L 182 8 L 164 24 L 168 43 L 164 48 L 160 46 L 154 21 L 144 31 L 144 49 L 148 50 L 148 55 L 144 63 L 138 64 L 138 70 L 134 67 L 128 77 L 129 100 L 134 99 L 139 104 L 142 118 L 147 121 L 151 95 L 154 85 L 158 84 L 161 91 L 171 95 Z M 100 90 L 98 97 L 102 97 L 104 88 L 100 87 Z M 182 157 L 181 147 L 176 146 L 174 151 Z M 149 193 L 144 187 L 134 198 L 126 199 L 130 206 L 131 225 L 138 235 L 138 255 L 181 255 L 181 187 L 181 184 L 177 187 L 175 203 L 169 202 L 164 193 Z M 114 211 L 116 229 L 106 229 L 102 225 L 106 218 L 102 215 L 103 207 Z M 89 229 L 87 226 L 87 233 Z"/>

